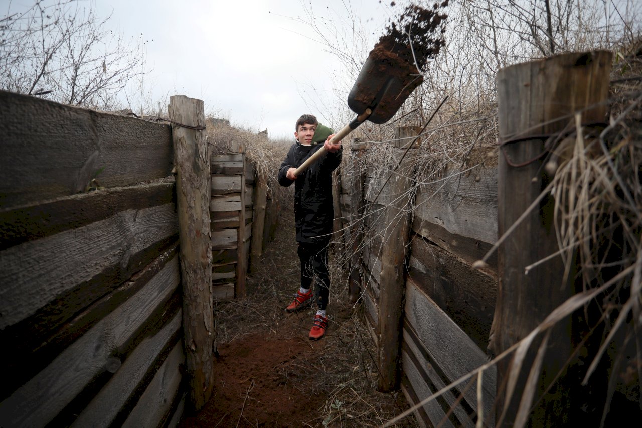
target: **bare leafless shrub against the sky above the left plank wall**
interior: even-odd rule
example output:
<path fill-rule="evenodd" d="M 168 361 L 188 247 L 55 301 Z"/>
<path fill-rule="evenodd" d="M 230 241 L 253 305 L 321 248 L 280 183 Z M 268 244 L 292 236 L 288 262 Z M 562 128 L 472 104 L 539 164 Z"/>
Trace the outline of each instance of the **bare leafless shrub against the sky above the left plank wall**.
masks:
<path fill-rule="evenodd" d="M 10 6 L 0 19 L 0 87 L 57 102 L 110 108 L 116 94 L 143 75 L 142 35 L 125 40 L 110 19 L 74 0 Z"/>

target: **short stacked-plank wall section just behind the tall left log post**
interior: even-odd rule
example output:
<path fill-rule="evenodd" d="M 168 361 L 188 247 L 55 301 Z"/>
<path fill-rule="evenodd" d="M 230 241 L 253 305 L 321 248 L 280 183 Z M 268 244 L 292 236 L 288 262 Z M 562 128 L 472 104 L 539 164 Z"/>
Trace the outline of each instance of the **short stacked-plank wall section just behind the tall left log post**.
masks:
<path fill-rule="evenodd" d="M 214 299 L 226 300 L 238 296 L 247 273 L 256 174 L 243 152 L 213 155 L 211 170 L 212 282 Z"/>

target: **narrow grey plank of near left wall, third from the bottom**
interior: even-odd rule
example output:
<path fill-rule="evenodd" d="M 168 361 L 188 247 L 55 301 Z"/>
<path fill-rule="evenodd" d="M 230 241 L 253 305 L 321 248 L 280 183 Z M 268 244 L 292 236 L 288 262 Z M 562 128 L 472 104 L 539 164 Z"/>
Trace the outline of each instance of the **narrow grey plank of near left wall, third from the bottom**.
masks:
<path fill-rule="evenodd" d="M 168 345 L 168 342 L 180 334 L 181 324 L 182 311 L 179 310 L 160 332 L 148 337 L 137 346 L 122 366 L 116 369 L 114 377 L 107 382 L 71 426 L 111 426 L 119 411 L 128 400 L 132 399 L 139 384 L 148 375 L 159 353 Z"/>

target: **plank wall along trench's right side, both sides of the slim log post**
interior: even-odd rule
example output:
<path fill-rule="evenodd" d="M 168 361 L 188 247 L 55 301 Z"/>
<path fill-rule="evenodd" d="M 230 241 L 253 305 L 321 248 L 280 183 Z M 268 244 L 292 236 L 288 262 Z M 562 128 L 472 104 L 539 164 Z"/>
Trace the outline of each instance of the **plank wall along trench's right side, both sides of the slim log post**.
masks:
<path fill-rule="evenodd" d="M 490 157 L 496 159 L 492 153 L 482 159 Z M 360 163 L 361 171 L 364 165 L 367 164 Z M 495 165 L 479 165 L 460 174 L 462 169 L 465 168 L 449 165 L 437 179 L 417 187 L 411 244 L 404 267 L 406 298 L 400 332 L 400 386 L 411 403 L 421 402 L 487 362 L 498 283 L 497 261 L 491 258 L 489 266 L 481 271 L 471 265 L 497 239 L 497 171 Z M 388 194 L 388 186 L 382 189 L 390 174 L 385 168 L 365 169 L 362 192 L 353 184 L 358 172 L 354 162 L 344 163 L 340 208 L 344 242 L 354 241 L 357 230 L 363 233 L 358 254 L 361 263 L 352 258 L 349 269 L 362 272 L 363 312 L 376 342 L 381 238 L 386 227 L 382 214 L 383 206 L 394 195 Z M 361 202 L 354 201 L 355 193 L 363 193 Z M 368 215 L 357 224 L 354 219 L 360 217 L 355 217 L 354 207 L 360 204 Z M 349 245 L 345 245 L 345 251 L 353 254 Z M 485 371 L 481 406 L 488 426 L 494 425 L 495 382 L 495 369 Z M 415 412 L 419 424 L 474 427 L 478 409 L 476 381 L 466 387 L 467 382 L 420 407 Z"/>

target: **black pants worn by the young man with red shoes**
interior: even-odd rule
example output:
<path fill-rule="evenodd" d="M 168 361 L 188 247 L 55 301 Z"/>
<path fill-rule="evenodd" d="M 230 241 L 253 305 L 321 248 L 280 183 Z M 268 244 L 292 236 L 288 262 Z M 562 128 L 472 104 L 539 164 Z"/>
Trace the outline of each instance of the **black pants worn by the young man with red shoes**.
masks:
<path fill-rule="evenodd" d="M 327 271 L 327 242 L 307 244 L 299 242 L 299 260 L 301 261 L 301 287 L 310 289 L 313 280 L 317 278 L 318 292 L 313 290 L 317 298 L 318 308 L 325 310 L 330 294 L 330 275 Z"/>

